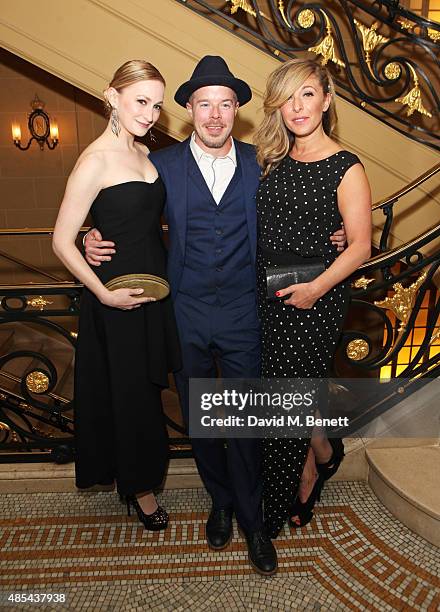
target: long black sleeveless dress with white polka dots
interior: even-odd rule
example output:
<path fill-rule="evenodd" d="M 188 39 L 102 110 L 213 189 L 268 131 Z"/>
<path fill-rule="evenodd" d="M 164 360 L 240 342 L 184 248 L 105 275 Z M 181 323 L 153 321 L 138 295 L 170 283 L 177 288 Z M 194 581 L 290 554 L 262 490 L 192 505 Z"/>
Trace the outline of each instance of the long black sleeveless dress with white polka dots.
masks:
<path fill-rule="evenodd" d="M 264 378 L 322 378 L 329 373 L 348 303 L 340 283 L 309 310 L 266 299 L 266 266 L 320 258 L 329 267 L 337 257 L 330 235 L 340 228 L 337 188 L 345 172 L 360 163 L 339 151 L 315 162 L 287 156 L 257 193 L 258 305 L 262 325 Z M 263 502 L 268 533 L 276 537 L 295 501 L 310 445 L 303 438 L 263 440 Z"/>

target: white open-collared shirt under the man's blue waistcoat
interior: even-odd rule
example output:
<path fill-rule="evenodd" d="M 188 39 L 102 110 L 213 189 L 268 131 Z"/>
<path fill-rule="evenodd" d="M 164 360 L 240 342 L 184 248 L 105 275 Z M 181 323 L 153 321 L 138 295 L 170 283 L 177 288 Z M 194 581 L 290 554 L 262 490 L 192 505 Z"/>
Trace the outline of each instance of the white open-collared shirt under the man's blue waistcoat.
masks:
<path fill-rule="evenodd" d="M 195 136 L 195 132 L 193 132 L 190 142 L 191 152 L 209 191 L 212 193 L 212 197 L 216 204 L 218 204 L 231 182 L 237 167 L 237 152 L 235 150 L 234 139 L 231 137 L 232 144 L 227 155 L 215 157 L 199 147 Z"/>

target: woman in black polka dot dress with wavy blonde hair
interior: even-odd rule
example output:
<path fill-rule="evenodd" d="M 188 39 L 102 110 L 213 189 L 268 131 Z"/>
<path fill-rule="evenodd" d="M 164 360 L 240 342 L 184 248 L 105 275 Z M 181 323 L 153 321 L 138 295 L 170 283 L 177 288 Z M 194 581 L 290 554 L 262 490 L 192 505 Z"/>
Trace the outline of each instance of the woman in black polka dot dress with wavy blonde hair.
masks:
<path fill-rule="evenodd" d="M 320 64 L 291 60 L 277 68 L 268 80 L 264 112 L 255 138 L 263 171 L 257 193 L 262 375 L 325 378 L 346 312 L 346 279 L 370 256 L 370 189 L 356 155 L 330 138 L 336 122 L 333 84 Z M 341 220 L 348 246 L 338 256 L 329 237 Z M 267 300 L 268 266 L 312 261 L 324 262 L 320 276 Z M 289 515 L 313 507 L 323 468 L 334 473 L 335 455 L 325 434 L 314 434 L 312 445 L 310 432 L 305 435 L 263 440 L 264 513 L 271 537 Z"/>

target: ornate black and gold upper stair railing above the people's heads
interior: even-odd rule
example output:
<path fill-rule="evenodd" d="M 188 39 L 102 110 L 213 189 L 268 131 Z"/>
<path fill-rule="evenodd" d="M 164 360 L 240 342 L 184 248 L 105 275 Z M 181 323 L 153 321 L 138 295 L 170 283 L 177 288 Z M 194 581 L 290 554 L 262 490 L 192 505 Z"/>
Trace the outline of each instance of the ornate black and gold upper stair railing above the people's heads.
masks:
<path fill-rule="evenodd" d="M 395 0 L 176 0 L 277 57 L 313 53 L 338 94 L 440 149 L 440 24 Z"/>

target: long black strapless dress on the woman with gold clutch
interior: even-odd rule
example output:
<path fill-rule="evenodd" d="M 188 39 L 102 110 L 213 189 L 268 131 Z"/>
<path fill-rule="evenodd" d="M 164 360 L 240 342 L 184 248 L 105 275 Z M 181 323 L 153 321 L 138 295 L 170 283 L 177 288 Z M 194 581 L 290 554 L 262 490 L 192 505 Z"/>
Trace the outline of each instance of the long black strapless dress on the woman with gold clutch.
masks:
<path fill-rule="evenodd" d="M 102 189 L 91 215 L 116 253 L 93 268 L 103 283 L 122 274 L 166 278 L 160 215 L 165 188 L 130 181 Z M 164 478 L 168 436 L 161 390 L 181 367 L 171 298 L 134 310 L 104 306 L 84 289 L 75 364 L 76 484 L 111 484 L 132 495 Z"/>

